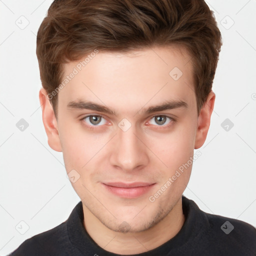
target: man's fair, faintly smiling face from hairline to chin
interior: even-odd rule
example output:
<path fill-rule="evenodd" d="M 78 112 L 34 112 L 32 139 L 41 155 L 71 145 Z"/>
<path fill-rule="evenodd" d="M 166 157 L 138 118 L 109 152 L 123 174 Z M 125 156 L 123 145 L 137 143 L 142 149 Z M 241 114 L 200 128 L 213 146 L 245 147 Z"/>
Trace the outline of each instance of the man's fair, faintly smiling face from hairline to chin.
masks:
<path fill-rule="evenodd" d="M 191 57 L 174 46 L 91 56 L 64 65 L 64 78 L 75 74 L 58 92 L 48 141 L 84 208 L 111 230 L 146 230 L 180 199 L 206 137 Z"/>

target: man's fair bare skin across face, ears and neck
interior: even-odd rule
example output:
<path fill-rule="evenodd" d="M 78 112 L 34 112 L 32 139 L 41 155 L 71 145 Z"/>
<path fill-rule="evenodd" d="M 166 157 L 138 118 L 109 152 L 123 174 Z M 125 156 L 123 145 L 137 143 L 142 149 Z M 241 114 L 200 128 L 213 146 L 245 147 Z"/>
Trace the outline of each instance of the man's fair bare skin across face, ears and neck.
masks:
<path fill-rule="evenodd" d="M 209 93 L 197 115 L 190 59 L 185 49 L 173 45 L 129 53 L 99 51 L 58 92 L 57 119 L 46 91 L 39 92 L 48 144 L 63 152 L 67 173 L 79 173 L 72 186 L 82 201 L 84 227 L 107 251 L 151 250 L 176 235 L 185 221 L 181 195 L 192 164 L 153 202 L 148 198 L 206 139 L 215 94 Z M 64 64 L 64 76 L 79 61 Z M 178 80 L 169 75 L 175 66 L 183 73 Z M 67 107 L 78 98 L 104 104 L 116 115 Z M 183 100 L 187 107 L 143 113 L 170 99 Z M 99 125 L 82 119 L 89 114 L 102 116 Z M 154 116 L 159 115 L 167 116 L 165 123 L 157 122 Z M 118 126 L 123 118 L 131 124 L 126 131 Z M 107 181 L 155 184 L 141 196 L 122 198 L 102 186 Z"/>

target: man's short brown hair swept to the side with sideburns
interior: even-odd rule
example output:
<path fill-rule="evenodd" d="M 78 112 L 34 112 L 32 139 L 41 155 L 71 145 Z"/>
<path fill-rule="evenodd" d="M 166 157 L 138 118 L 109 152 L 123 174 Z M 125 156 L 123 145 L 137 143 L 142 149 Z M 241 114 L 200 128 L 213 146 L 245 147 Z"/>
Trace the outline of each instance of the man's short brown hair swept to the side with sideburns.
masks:
<path fill-rule="evenodd" d="M 37 33 L 42 86 L 61 83 L 63 63 L 95 48 L 129 50 L 178 44 L 192 57 L 197 113 L 212 87 L 221 34 L 204 0 L 54 0 Z M 50 98 L 55 116 L 57 95 Z"/>

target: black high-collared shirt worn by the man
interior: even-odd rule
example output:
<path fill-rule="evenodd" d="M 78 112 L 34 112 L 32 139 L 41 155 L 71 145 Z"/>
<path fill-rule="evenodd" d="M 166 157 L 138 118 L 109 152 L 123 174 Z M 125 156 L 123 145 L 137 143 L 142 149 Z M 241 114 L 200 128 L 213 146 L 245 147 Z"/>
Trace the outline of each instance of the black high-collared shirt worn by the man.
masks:
<path fill-rule="evenodd" d="M 133 256 L 252 256 L 256 255 L 256 229 L 243 221 L 206 213 L 182 195 L 185 222 L 162 245 Z M 163 234 L 164 235 L 164 234 Z M 25 240 L 11 256 L 118 256 L 101 248 L 83 227 L 82 202 L 66 221 Z"/>

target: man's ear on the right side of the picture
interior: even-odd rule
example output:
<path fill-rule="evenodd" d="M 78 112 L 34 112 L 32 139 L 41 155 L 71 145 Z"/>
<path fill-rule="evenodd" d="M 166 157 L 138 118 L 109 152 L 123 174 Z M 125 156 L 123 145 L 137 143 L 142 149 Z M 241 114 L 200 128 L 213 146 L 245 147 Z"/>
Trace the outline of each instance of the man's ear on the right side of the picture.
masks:
<path fill-rule="evenodd" d="M 210 126 L 210 116 L 214 107 L 215 93 L 211 90 L 205 103 L 201 107 L 197 118 L 197 128 L 194 141 L 194 149 L 201 147 L 206 139 Z"/>

